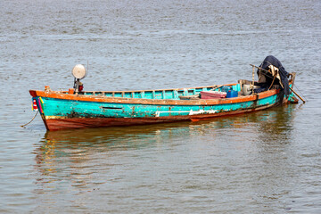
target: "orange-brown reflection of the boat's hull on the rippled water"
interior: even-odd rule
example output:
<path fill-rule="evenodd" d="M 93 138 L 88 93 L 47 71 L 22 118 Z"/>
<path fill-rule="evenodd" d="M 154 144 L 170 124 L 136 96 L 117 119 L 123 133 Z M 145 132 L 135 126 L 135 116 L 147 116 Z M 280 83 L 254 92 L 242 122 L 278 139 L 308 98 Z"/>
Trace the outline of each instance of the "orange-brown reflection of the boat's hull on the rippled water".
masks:
<path fill-rule="evenodd" d="M 267 144 L 285 144 L 291 139 L 293 108 L 295 105 L 290 104 L 233 117 L 156 126 L 47 131 L 35 151 L 37 163 L 68 157 L 81 161 L 96 152 L 140 150 L 170 144 L 177 139 L 200 140 L 200 136 L 209 137 L 203 140 L 211 142 L 232 135 L 240 141 L 255 139 Z"/>

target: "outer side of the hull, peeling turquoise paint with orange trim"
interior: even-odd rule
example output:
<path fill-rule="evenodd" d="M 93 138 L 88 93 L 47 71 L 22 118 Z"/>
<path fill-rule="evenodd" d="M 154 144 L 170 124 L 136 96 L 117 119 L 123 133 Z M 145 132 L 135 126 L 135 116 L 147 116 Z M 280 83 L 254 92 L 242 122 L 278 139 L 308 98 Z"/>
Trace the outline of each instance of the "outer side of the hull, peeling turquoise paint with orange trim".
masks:
<path fill-rule="evenodd" d="M 30 95 L 37 101 L 48 130 L 197 121 L 260 111 L 284 103 L 279 90 L 212 100 L 119 98 L 33 90 Z"/>

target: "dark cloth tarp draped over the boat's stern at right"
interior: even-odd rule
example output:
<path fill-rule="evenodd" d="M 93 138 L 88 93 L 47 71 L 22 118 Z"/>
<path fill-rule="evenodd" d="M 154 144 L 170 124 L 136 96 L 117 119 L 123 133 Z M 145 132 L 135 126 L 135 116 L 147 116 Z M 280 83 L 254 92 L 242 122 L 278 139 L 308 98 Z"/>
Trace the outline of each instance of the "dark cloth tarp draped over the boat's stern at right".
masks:
<path fill-rule="evenodd" d="M 268 55 L 259 65 L 257 73 L 259 76 L 259 85 L 265 88 L 273 85 L 279 85 L 284 89 L 284 95 L 290 95 L 289 73 L 284 69 L 282 63 L 273 55 Z M 269 72 L 265 71 L 269 70 Z M 275 78 L 276 77 L 276 78 Z"/>

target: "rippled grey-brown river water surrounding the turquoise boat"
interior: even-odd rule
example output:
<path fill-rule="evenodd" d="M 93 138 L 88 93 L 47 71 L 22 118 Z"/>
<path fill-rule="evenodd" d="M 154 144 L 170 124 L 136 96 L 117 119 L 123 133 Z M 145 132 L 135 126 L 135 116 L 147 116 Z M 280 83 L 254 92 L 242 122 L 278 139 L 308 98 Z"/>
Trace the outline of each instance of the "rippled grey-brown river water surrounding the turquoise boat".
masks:
<path fill-rule="evenodd" d="M 321 2 L 0 1 L 0 212 L 321 213 Z M 307 100 L 47 132 L 29 89 L 210 86 L 275 55 Z"/>

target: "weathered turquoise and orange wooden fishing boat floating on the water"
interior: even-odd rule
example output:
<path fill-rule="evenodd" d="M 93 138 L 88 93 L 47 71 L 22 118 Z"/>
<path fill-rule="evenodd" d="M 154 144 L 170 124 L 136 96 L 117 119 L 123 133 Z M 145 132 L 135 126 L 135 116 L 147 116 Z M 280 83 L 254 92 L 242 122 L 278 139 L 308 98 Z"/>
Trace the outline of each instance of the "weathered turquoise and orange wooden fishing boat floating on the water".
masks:
<path fill-rule="evenodd" d="M 294 77 L 289 80 L 290 87 Z M 29 91 L 48 130 L 197 121 L 298 103 L 292 93 L 285 96 L 279 86 L 255 93 L 255 83 L 246 80 L 222 86 L 80 92 L 79 79 L 76 78 L 76 88 L 68 91 L 53 91 L 48 86 L 44 91 Z M 249 85 L 252 93 L 245 95 L 244 89 Z M 234 97 L 229 96 L 231 92 Z M 226 97 L 221 97 L 224 93 Z M 210 98 L 209 94 L 220 95 Z"/>

